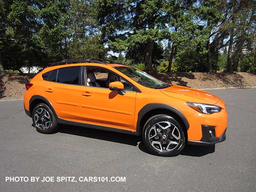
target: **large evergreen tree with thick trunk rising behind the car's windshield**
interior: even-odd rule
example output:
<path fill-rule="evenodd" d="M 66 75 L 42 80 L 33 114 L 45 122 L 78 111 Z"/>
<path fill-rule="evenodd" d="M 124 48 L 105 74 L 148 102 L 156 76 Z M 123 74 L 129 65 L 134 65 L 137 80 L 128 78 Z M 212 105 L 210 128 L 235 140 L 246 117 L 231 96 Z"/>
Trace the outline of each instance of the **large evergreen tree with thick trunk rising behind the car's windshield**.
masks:
<path fill-rule="evenodd" d="M 155 42 L 162 39 L 166 17 L 164 0 L 99 0 L 103 38 L 108 38 L 113 50 L 144 47 L 145 70 L 152 71 Z"/>

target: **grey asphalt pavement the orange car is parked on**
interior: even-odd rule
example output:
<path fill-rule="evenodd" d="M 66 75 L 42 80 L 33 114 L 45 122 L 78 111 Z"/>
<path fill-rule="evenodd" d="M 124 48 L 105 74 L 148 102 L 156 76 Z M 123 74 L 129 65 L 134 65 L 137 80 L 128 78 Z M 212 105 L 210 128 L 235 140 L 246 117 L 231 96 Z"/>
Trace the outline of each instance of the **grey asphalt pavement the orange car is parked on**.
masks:
<path fill-rule="evenodd" d="M 55 134 L 40 134 L 23 101 L 0 101 L 0 191 L 255 192 L 256 89 L 209 92 L 226 102 L 226 141 L 186 146 L 174 157 L 151 155 L 140 137 L 120 133 L 60 126 Z M 33 176 L 38 182 L 31 182 Z M 74 182 L 58 182 L 61 176 Z M 89 181 L 94 176 L 104 179 Z M 14 177 L 29 181 L 6 181 Z M 44 177 L 54 182 L 42 182 Z"/>

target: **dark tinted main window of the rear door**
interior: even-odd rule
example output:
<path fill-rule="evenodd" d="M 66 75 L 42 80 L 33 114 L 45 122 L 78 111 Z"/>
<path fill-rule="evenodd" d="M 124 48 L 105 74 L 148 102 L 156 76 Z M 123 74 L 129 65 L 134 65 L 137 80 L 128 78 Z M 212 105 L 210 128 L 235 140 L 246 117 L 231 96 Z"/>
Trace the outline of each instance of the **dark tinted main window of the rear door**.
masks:
<path fill-rule="evenodd" d="M 58 71 L 57 82 L 79 85 L 80 66 L 64 67 Z"/>

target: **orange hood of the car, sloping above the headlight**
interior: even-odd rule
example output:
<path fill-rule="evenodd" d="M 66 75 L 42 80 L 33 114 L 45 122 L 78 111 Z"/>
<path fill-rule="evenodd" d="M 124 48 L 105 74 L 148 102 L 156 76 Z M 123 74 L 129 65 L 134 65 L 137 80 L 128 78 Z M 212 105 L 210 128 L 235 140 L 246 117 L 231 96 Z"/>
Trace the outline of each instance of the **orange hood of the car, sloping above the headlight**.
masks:
<path fill-rule="evenodd" d="M 183 101 L 206 103 L 212 105 L 219 102 L 219 97 L 216 97 L 213 94 L 179 85 L 173 85 L 171 87 L 161 89 L 160 91 L 169 97 Z"/>

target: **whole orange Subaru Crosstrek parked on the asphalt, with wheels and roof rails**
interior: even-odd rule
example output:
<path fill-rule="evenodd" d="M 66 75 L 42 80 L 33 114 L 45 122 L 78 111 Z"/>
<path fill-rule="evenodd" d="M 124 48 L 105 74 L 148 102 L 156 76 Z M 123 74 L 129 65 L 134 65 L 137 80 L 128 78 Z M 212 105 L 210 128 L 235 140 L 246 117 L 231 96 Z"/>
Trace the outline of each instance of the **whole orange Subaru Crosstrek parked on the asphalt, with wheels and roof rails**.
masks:
<path fill-rule="evenodd" d="M 142 135 L 155 155 L 224 141 L 225 103 L 204 91 L 157 80 L 103 60 L 64 60 L 26 84 L 24 108 L 40 133 L 58 124 Z"/>

